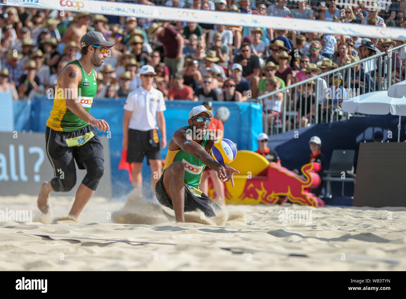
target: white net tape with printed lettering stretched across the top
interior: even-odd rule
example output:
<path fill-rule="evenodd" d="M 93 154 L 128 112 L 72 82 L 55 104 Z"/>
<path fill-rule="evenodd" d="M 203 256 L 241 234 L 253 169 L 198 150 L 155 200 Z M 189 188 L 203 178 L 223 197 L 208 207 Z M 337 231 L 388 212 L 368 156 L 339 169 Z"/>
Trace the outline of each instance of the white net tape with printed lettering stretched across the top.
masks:
<path fill-rule="evenodd" d="M 355 2 L 340 0 L 341 3 Z M 141 4 L 130 4 L 109 1 L 71 1 L 71 0 L 6 0 L 6 5 L 33 7 L 40 9 L 56 9 L 59 11 L 88 12 L 103 15 L 122 15 L 158 20 L 175 20 L 209 24 L 225 24 L 231 26 L 262 27 L 306 31 L 329 34 L 343 34 L 349 36 L 391 39 L 406 39 L 404 28 L 382 28 L 380 26 L 359 25 L 350 23 L 327 22 L 285 17 L 271 17 L 244 13 L 224 13 L 175 7 L 160 7 Z M 379 2 L 387 2 L 380 0 Z M 367 2 L 370 5 L 372 1 Z"/>

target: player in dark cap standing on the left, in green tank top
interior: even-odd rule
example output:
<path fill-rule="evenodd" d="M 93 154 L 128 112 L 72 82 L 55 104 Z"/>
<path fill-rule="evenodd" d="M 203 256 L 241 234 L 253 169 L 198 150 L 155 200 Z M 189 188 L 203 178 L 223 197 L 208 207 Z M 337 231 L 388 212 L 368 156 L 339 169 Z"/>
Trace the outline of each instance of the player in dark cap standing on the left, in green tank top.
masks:
<path fill-rule="evenodd" d="M 102 65 L 107 48 L 114 45 L 103 34 L 90 31 L 80 39 L 82 57 L 69 62 L 58 75 L 54 105 L 47 120 L 45 132 L 48 159 L 54 168 L 54 177 L 41 185 L 38 208 L 49 210 L 50 192 L 67 192 L 76 184 L 75 162 L 86 169 L 86 176 L 76 192 L 75 201 L 67 217 L 77 220 L 80 212 L 94 194 L 104 173 L 103 146 L 96 136 L 110 130 L 105 120 L 90 114 L 97 90 L 97 73 L 93 67 Z"/>

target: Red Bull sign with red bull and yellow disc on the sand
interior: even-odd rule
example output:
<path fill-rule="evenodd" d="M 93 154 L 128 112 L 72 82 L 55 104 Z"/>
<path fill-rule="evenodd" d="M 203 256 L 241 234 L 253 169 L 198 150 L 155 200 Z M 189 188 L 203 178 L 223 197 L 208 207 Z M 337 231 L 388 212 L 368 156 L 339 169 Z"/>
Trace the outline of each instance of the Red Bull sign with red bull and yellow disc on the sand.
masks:
<path fill-rule="evenodd" d="M 257 153 L 238 151 L 237 158 L 229 165 L 239 170 L 240 175 L 233 176 L 234 188 L 230 181 L 224 183 L 227 204 L 276 204 L 283 203 L 286 197 L 292 203 L 300 205 L 325 205 L 322 199 L 311 193 L 311 189 L 321 183 L 317 174 L 321 169 L 320 163 L 305 164 L 302 166 L 303 175 L 297 175 L 276 163 L 269 163 Z M 207 195 L 210 198 L 215 196 L 211 182 Z"/>

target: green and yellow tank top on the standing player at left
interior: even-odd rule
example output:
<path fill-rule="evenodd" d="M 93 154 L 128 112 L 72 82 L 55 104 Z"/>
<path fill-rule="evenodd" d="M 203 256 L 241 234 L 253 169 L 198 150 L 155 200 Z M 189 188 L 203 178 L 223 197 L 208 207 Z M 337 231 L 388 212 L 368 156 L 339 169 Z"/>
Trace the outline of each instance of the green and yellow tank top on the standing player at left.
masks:
<path fill-rule="evenodd" d="M 69 64 L 76 64 L 80 68 L 82 81 L 80 81 L 78 85 L 78 101 L 80 101 L 84 109 L 90 113 L 93 98 L 97 91 L 95 70 L 92 68 L 91 74 L 88 75 L 78 60 L 73 60 L 67 63 L 67 65 Z M 47 127 L 50 127 L 52 130 L 73 132 L 82 129 L 89 124 L 89 122 L 82 120 L 72 111 L 67 109 L 65 105 L 65 97 L 69 98 L 70 94 L 73 94 L 73 90 L 60 89 L 58 81 L 56 82 L 54 105 L 51 110 L 51 115 L 47 120 Z"/>

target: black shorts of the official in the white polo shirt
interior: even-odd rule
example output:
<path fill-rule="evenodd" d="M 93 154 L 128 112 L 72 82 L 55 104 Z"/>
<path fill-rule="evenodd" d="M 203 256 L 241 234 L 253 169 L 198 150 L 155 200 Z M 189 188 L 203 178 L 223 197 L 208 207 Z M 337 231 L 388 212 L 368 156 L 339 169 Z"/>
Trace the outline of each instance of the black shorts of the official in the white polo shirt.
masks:
<path fill-rule="evenodd" d="M 155 143 L 153 146 L 151 131 L 138 131 L 128 129 L 128 150 L 127 150 L 127 162 L 143 162 L 144 156 L 147 156 L 147 160 L 160 160 L 161 152 Z"/>

